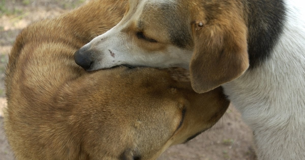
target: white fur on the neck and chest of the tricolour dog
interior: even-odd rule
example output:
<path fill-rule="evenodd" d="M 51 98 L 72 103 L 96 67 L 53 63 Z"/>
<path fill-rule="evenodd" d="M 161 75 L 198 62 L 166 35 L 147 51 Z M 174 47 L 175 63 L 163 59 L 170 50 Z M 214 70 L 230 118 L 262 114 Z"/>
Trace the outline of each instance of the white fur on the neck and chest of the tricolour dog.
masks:
<path fill-rule="evenodd" d="M 223 85 L 253 130 L 258 159 L 305 159 L 305 10 L 297 8 L 300 3 L 286 2 L 288 21 L 267 62 Z"/>

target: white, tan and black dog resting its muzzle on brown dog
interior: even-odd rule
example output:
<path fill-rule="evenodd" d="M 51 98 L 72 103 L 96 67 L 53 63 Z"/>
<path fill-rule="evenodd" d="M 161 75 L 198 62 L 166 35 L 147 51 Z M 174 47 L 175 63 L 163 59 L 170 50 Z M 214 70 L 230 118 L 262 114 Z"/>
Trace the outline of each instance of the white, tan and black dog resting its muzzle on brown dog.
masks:
<path fill-rule="evenodd" d="M 259 159 L 305 159 L 305 9 L 298 0 L 130 0 L 123 20 L 74 55 L 87 71 L 189 68 L 222 85 Z"/>

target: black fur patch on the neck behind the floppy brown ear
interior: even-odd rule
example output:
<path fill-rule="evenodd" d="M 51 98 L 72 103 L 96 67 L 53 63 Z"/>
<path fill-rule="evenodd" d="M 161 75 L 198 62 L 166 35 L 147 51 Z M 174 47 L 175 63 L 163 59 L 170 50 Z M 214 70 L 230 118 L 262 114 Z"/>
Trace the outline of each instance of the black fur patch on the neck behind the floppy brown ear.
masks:
<path fill-rule="evenodd" d="M 254 69 L 270 57 L 283 31 L 286 9 L 283 0 L 247 0 L 246 9 L 249 69 Z"/>

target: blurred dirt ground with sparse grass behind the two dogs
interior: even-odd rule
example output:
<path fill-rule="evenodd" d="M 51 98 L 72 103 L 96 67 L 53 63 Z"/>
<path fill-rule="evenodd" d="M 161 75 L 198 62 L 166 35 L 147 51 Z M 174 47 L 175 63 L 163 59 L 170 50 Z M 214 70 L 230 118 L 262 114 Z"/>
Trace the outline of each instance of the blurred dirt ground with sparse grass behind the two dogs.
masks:
<path fill-rule="evenodd" d="M 33 21 L 58 16 L 84 3 L 85 0 L 0 0 L 0 160 L 14 159 L 3 130 L 2 108 L 6 107 L 4 70 L 17 34 Z M 167 159 L 255 160 L 252 131 L 230 106 L 210 130 L 186 144 L 169 148 L 159 158 Z"/>

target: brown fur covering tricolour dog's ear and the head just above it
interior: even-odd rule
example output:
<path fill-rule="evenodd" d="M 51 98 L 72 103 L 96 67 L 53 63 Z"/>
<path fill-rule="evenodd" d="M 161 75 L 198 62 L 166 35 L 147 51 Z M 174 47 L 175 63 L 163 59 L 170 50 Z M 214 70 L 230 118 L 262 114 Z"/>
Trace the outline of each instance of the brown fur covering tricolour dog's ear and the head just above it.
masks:
<path fill-rule="evenodd" d="M 192 23 L 195 45 L 190 61 L 192 87 L 198 93 L 234 80 L 249 67 L 241 5 L 217 0 L 201 3 L 192 6 L 197 12 Z"/>

